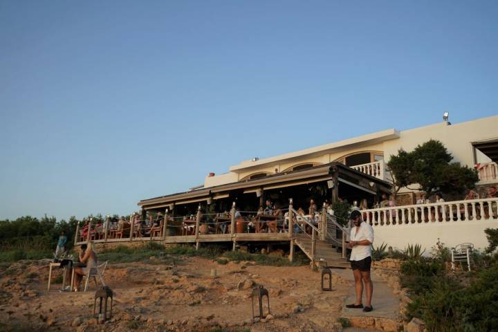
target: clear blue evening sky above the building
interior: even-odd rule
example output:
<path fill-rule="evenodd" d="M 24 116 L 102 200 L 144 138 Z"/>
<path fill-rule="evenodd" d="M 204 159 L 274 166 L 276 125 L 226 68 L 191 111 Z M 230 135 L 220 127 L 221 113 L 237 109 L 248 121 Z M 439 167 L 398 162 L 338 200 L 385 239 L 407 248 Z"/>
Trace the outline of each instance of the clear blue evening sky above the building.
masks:
<path fill-rule="evenodd" d="M 0 1 L 0 219 L 498 113 L 497 1 Z"/>

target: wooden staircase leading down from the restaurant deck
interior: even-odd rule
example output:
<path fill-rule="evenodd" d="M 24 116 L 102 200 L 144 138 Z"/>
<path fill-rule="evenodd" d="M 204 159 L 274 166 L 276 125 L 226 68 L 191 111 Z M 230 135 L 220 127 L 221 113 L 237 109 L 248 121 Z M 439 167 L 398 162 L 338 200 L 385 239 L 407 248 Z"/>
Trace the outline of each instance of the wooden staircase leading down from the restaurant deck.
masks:
<path fill-rule="evenodd" d="M 295 237 L 295 244 L 301 248 L 301 250 L 306 254 L 306 256 L 313 261 L 313 255 L 311 253 L 312 240 L 306 236 Z M 326 266 L 332 268 L 351 268 L 351 264 L 342 258 L 342 253 L 338 252 L 337 248 L 327 242 L 322 240 L 316 240 L 315 242 L 315 265 L 324 265 L 321 260 L 326 261 Z"/>

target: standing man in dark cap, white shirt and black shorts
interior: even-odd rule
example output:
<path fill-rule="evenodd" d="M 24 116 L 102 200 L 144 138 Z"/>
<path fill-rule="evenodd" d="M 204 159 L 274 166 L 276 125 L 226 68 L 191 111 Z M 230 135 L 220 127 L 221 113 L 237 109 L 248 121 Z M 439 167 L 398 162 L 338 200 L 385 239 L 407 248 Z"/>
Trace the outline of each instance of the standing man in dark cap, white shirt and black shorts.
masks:
<path fill-rule="evenodd" d="M 362 220 L 361 212 L 353 210 L 349 219 L 353 221 L 351 228 L 351 269 L 355 278 L 356 302 L 347 304 L 347 308 L 363 308 L 363 311 L 372 311 L 371 305 L 372 293 L 374 293 L 374 284 L 370 279 L 371 266 L 371 244 L 374 242 L 374 230 L 371 225 Z M 367 303 L 365 307 L 362 304 L 363 284 L 365 284 L 365 295 Z"/>

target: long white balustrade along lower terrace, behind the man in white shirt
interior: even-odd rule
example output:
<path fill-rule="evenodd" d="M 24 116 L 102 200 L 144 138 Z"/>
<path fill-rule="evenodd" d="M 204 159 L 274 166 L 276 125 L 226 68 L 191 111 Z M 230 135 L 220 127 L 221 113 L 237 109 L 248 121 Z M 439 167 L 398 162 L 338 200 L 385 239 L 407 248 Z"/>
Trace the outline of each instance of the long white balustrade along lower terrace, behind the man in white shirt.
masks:
<path fill-rule="evenodd" d="M 472 199 L 361 210 L 374 226 L 497 219 L 498 199 Z M 498 223 L 497 223 L 498 226 Z"/>

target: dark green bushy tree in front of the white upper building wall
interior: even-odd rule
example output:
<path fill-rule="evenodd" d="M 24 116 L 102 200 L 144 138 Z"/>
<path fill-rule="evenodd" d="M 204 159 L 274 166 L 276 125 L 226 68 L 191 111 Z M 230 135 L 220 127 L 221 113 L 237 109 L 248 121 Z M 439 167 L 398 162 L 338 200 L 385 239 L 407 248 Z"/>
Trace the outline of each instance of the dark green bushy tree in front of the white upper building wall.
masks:
<path fill-rule="evenodd" d="M 472 189 L 479 181 L 477 171 L 452 163 L 452 159 L 452 154 L 439 140 L 429 140 L 411 152 L 400 149 L 387 163 L 394 181 L 394 194 L 401 187 L 417 183 L 427 197 L 438 191 L 462 194 Z"/>

